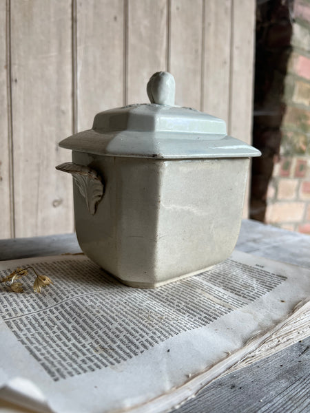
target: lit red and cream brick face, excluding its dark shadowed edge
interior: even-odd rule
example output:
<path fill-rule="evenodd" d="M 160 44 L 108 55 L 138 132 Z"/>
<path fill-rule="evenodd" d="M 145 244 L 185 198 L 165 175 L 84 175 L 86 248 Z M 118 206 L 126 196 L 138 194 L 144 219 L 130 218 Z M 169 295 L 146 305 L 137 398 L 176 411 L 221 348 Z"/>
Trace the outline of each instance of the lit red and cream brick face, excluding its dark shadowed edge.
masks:
<path fill-rule="evenodd" d="M 267 191 L 265 222 L 310 234 L 310 1 L 293 3 L 280 158 Z"/>

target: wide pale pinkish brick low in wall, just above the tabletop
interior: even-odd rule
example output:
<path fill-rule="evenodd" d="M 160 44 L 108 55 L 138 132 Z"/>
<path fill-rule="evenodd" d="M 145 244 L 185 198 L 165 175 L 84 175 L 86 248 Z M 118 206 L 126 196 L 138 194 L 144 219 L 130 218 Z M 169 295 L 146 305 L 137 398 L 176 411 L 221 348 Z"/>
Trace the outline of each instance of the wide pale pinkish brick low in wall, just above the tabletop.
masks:
<path fill-rule="evenodd" d="M 300 222 L 304 215 L 304 202 L 276 202 L 269 204 L 266 222 L 269 224 Z"/>

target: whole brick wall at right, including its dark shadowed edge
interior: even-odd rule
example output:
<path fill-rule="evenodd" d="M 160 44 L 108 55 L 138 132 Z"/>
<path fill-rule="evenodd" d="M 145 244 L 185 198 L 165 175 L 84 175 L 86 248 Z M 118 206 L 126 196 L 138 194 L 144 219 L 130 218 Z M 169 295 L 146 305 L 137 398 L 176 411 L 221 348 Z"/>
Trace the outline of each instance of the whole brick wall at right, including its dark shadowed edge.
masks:
<path fill-rule="evenodd" d="M 310 0 L 259 3 L 251 218 L 310 234 Z"/>

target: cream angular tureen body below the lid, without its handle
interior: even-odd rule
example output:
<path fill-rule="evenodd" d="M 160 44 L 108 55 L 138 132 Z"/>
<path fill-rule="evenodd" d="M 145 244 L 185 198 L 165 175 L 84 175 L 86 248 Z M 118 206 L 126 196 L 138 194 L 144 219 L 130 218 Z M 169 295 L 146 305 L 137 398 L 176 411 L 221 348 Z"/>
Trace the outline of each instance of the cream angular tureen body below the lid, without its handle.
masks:
<path fill-rule="evenodd" d="M 73 152 L 105 193 L 92 215 L 74 182 L 85 254 L 121 282 L 152 288 L 225 260 L 240 230 L 249 158 L 165 160 Z"/>

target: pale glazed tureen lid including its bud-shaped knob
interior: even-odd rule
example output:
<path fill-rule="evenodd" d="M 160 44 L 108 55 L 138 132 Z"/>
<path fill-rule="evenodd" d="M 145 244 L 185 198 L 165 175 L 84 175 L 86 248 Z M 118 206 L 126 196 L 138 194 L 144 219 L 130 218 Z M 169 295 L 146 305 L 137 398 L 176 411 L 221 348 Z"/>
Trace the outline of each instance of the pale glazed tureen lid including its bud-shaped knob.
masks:
<path fill-rule="evenodd" d="M 151 103 L 96 114 L 92 129 L 62 140 L 59 146 L 103 156 L 192 159 L 244 158 L 260 151 L 227 136 L 225 121 L 174 105 L 174 77 L 154 74 L 147 83 Z"/>

